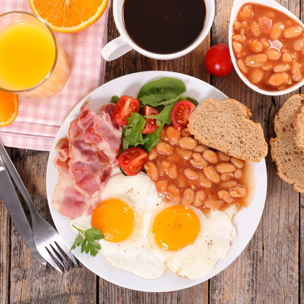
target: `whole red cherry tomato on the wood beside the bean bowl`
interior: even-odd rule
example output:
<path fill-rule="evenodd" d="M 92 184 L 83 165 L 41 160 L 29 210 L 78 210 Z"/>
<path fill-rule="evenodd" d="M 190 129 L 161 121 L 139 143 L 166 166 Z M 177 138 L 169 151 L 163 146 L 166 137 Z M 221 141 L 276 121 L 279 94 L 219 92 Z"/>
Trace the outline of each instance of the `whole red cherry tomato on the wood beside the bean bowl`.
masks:
<path fill-rule="evenodd" d="M 211 47 L 205 56 L 205 66 L 212 75 L 228 75 L 233 70 L 229 46 L 218 44 Z"/>

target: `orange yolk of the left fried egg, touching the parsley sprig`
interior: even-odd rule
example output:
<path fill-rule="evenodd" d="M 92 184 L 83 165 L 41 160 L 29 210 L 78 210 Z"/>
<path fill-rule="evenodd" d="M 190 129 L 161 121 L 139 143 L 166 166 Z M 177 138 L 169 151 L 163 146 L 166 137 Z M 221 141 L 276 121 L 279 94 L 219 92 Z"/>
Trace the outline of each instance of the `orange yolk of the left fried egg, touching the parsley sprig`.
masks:
<path fill-rule="evenodd" d="M 104 240 L 121 242 L 131 235 L 134 218 L 134 211 L 126 202 L 109 199 L 93 211 L 91 224 L 101 230 Z"/>

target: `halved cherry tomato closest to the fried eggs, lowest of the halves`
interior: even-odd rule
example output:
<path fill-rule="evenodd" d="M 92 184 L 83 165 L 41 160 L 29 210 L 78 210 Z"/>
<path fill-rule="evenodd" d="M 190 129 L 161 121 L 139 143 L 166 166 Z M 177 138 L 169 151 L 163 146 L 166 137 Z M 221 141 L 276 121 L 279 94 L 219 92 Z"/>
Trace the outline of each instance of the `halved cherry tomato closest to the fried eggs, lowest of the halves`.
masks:
<path fill-rule="evenodd" d="M 143 169 L 147 158 L 148 155 L 145 150 L 134 147 L 124 150 L 118 160 L 124 172 L 132 176 L 138 174 Z"/>

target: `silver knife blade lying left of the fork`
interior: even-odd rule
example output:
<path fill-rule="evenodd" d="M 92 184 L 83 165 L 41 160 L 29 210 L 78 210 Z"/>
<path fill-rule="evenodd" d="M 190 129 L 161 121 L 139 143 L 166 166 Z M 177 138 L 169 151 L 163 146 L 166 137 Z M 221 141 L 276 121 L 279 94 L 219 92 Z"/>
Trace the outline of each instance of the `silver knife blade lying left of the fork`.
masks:
<path fill-rule="evenodd" d="M 6 206 L 8 213 L 10 214 L 15 227 L 17 228 L 19 234 L 21 235 L 23 241 L 33 253 L 33 255 L 44 265 L 46 265 L 46 260 L 38 252 L 31 227 L 26 218 L 20 200 L 15 191 L 14 184 L 11 177 L 0 158 L 0 197 Z"/>

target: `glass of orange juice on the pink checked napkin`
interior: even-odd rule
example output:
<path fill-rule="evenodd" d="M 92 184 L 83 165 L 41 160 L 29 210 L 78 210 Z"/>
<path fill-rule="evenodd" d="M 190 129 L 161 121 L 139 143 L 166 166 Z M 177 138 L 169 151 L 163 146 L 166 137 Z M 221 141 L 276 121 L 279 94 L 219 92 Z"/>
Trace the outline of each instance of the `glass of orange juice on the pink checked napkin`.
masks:
<path fill-rule="evenodd" d="M 67 57 L 43 19 L 26 12 L 0 15 L 0 91 L 48 97 L 68 75 Z"/>

